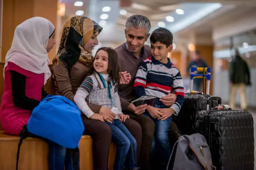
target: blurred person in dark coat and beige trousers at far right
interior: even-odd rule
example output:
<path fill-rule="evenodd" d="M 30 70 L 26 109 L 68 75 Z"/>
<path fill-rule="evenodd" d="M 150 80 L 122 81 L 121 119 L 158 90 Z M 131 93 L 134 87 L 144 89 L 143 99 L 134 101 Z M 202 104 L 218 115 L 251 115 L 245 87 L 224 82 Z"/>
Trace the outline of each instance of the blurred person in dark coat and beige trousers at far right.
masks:
<path fill-rule="evenodd" d="M 229 107 L 235 108 L 236 90 L 240 90 L 240 107 L 246 110 L 246 85 L 251 85 L 250 70 L 247 63 L 241 57 L 237 47 L 233 49 L 233 60 L 230 62 L 229 82 L 230 82 L 230 98 Z"/>

